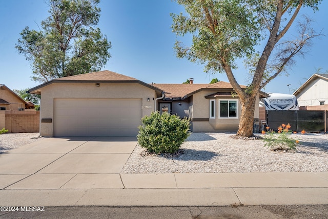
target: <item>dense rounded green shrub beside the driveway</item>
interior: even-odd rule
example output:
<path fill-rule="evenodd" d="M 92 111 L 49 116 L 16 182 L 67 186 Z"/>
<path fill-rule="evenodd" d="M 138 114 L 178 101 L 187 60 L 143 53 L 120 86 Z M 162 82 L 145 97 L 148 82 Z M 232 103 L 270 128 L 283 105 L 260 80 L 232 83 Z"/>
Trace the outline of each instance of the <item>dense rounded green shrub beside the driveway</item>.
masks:
<path fill-rule="evenodd" d="M 141 147 L 152 153 L 174 153 L 190 135 L 189 119 L 169 113 L 152 112 L 141 119 L 137 135 Z"/>

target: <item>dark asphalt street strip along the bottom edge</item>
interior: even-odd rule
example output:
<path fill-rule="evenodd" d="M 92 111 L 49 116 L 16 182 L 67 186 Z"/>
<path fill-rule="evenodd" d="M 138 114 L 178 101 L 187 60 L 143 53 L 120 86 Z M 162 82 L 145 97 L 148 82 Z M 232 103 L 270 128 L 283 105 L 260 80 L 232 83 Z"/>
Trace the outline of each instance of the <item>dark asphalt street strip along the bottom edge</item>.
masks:
<path fill-rule="evenodd" d="M 25 206 L 29 207 L 29 206 Z M 0 218 L 328 218 L 328 205 L 257 205 L 219 207 L 45 207 L 0 212 Z M 33 211 L 35 209 L 35 211 Z"/>

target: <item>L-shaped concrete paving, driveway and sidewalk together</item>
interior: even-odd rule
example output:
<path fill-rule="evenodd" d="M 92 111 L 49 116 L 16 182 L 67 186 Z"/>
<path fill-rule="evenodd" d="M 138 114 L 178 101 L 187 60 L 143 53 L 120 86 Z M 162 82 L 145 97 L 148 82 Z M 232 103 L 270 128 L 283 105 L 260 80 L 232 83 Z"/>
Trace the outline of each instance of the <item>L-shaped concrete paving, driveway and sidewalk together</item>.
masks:
<path fill-rule="evenodd" d="M 120 174 L 136 144 L 45 138 L 0 154 L 0 206 L 328 204 L 328 172 Z"/>

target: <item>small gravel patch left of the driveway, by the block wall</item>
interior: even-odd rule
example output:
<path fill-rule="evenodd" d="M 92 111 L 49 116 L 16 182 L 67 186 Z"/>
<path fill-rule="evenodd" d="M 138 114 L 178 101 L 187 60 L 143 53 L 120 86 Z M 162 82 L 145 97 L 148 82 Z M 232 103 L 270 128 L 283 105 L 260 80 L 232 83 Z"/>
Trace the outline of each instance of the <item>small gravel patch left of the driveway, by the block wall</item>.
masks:
<path fill-rule="evenodd" d="M 38 136 L 38 132 L 0 134 L 0 154 L 42 139 L 42 137 Z"/>

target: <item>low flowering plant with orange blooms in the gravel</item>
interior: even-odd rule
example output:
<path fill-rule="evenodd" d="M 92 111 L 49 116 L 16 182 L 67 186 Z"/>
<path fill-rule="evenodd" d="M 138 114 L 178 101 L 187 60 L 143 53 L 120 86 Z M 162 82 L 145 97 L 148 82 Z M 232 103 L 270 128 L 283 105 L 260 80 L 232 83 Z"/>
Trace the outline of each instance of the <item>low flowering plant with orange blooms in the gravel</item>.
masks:
<path fill-rule="evenodd" d="M 278 132 L 276 133 L 270 127 L 266 127 L 267 131 L 262 130 L 262 134 L 269 133 L 268 136 L 264 137 L 265 142 L 264 147 L 269 147 L 271 150 L 295 150 L 296 144 L 299 144 L 298 140 L 294 140 L 290 137 L 292 133 L 296 133 L 290 130 L 292 126 L 290 124 L 282 124 L 278 127 Z M 301 131 L 304 134 L 305 130 Z"/>

